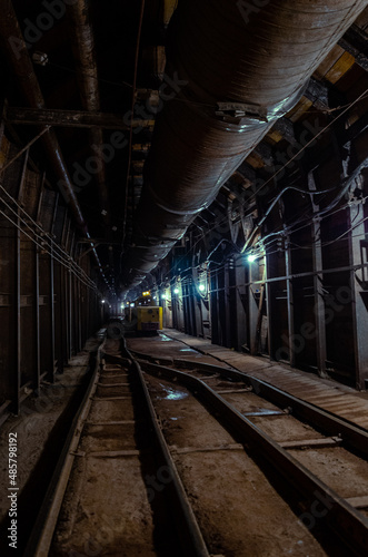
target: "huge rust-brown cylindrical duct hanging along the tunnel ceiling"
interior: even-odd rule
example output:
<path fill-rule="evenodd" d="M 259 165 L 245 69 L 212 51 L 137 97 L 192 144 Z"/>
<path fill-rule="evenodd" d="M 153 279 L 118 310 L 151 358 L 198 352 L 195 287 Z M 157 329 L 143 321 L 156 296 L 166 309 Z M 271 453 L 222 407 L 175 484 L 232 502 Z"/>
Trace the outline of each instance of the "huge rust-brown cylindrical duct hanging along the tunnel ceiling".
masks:
<path fill-rule="evenodd" d="M 137 286 L 300 98 L 366 0 L 180 0 L 122 284 Z M 166 91 L 167 94 L 168 91 Z"/>

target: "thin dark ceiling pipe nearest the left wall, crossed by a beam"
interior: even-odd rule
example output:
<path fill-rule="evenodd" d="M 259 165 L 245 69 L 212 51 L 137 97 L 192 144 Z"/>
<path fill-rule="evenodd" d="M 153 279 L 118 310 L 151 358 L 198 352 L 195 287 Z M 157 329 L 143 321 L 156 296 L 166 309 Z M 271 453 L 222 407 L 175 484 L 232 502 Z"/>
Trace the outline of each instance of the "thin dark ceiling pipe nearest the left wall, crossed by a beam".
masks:
<path fill-rule="evenodd" d="M 1 9 L 0 38 L 2 51 L 11 66 L 17 85 L 31 108 L 46 108 L 44 99 L 11 0 L 3 0 Z M 78 228 L 88 236 L 87 225 L 53 129 L 43 134 L 42 141 L 50 164 L 58 177 L 61 195 L 68 204 Z"/>

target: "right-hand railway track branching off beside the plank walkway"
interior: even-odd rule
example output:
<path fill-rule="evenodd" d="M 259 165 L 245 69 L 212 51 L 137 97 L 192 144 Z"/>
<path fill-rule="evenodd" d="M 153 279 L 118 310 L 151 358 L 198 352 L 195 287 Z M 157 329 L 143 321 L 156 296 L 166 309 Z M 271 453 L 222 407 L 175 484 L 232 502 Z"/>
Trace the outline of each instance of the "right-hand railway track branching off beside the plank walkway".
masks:
<path fill-rule="evenodd" d="M 267 463 L 265 469 L 271 475 L 276 472 L 281 479 L 281 490 L 289 492 L 291 488 L 295 502 L 304 509 L 302 516 L 309 515 L 314 526 L 316 517 L 312 510 L 319 505 L 318 521 L 346 546 L 342 555 L 367 555 L 368 482 L 361 481 L 368 472 L 367 431 L 236 370 L 199 361 L 133 353 L 139 356 L 146 372 L 185 385 L 215 416 L 221 417 L 228 430 L 251 450 L 253 457 L 260 457 Z M 291 417 L 309 424 L 309 437 L 304 434 L 300 439 L 282 440 L 280 421 Z M 276 424 L 275 420 L 279 423 Z M 318 466 L 317 455 L 324 450 L 324 465 L 335 459 L 331 455 L 338 451 L 337 462 L 346 463 L 349 481 L 344 476 L 331 478 L 330 472 L 335 472 L 330 468 L 326 471 L 326 466 Z M 360 476 L 358 472 L 354 477 L 352 470 L 357 468 Z M 331 482 L 334 487 L 330 487 Z M 356 492 L 356 487 L 351 487 L 351 495 L 349 486 L 339 489 L 339 483 L 344 486 L 345 482 L 359 486 L 359 492 Z"/>

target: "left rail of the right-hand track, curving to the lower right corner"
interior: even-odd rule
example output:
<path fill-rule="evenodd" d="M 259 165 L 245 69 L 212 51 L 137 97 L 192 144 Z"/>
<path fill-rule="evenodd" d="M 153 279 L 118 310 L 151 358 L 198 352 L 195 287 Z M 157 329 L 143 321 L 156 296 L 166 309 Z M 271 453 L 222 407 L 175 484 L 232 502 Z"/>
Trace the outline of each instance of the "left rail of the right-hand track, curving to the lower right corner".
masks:
<path fill-rule="evenodd" d="M 252 447 L 255 453 L 266 459 L 277 470 L 279 477 L 284 479 L 285 485 L 287 487 L 291 485 L 294 490 L 299 494 L 299 497 L 310 505 L 310 508 L 315 508 L 320 501 L 326 501 L 324 512 L 319 514 L 321 524 L 324 522 L 340 538 L 345 546 L 348 546 L 349 555 L 366 555 L 368 519 L 364 515 L 358 512 L 203 381 L 163 365 L 149 362 L 140 362 L 140 364 L 148 373 L 171 381 L 176 380 L 190 389 L 195 395 L 203 399 L 226 421 L 229 431 L 236 432 L 241 442 Z M 223 371 L 228 372 L 229 370 Z"/>

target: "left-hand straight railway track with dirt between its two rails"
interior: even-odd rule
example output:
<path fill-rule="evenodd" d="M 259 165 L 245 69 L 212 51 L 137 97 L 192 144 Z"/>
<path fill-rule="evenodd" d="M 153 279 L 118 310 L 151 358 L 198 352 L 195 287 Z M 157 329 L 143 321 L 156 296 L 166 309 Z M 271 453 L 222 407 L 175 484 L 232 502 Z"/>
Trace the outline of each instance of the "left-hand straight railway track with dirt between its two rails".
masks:
<path fill-rule="evenodd" d="M 142 372 L 123 355 L 119 341 L 106 340 L 28 557 L 209 557 Z"/>

